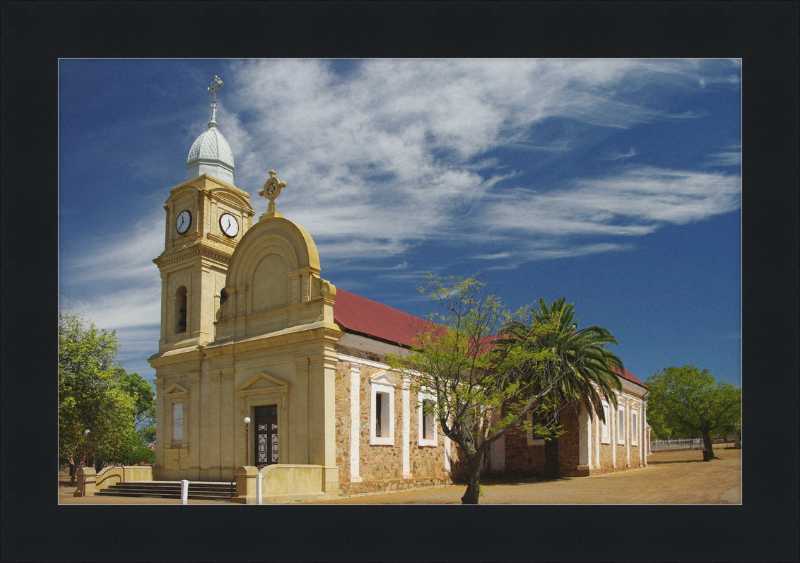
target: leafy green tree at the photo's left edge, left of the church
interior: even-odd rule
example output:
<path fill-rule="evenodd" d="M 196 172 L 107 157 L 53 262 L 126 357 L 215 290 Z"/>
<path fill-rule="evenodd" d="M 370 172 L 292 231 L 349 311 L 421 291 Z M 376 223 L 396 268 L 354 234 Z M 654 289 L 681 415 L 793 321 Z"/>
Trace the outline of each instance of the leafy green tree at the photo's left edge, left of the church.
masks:
<path fill-rule="evenodd" d="M 134 431 L 136 400 L 120 386 L 118 351 L 114 332 L 59 307 L 58 446 L 73 480 L 89 459 L 119 455 Z"/>

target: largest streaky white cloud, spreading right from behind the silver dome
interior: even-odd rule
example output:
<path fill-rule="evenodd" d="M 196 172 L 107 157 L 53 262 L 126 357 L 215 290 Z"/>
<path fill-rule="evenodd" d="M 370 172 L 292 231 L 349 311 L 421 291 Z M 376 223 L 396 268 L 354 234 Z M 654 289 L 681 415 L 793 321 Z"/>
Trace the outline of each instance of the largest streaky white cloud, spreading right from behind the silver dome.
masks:
<path fill-rule="evenodd" d="M 519 172 L 500 172 L 484 156 L 509 146 L 569 150 L 568 137 L 529 138 L 532 126 L 553 117 L 613 128 L 673 119 L 639 92 L 722 80 L 704 61 L 367 60 L 342 79 L 329 61 L 269 60 L 238 63 L 234 72 L 239 88 L 219 122 L 237 154 L 237 185 L 254 194 L 275 169 L 287 182 L 279 209 L 313 232 L 332 260 L 400 255 L 462 232 L 465 216 L 490 229 L 621 236 L 652 232 L 653 221 L 671 220 L 667 210 L 679 221 L 720 208 L 713 198 L 676 191 L 681 181 L 699 181 L 694 176 L 648 177 L 648 186 L 667 190 L 660 197 L 632 185 L 615 195 L 602 181 L 534 196 L 535 186 L 522 185 L 498 196 L 494 186 Z M 654 202 L 658 217 L 637 208 Z M 690 203 L 694 211 L 677 209 Z M 260 214 L 267 202 L 254 197 L 253 205 Z"/>

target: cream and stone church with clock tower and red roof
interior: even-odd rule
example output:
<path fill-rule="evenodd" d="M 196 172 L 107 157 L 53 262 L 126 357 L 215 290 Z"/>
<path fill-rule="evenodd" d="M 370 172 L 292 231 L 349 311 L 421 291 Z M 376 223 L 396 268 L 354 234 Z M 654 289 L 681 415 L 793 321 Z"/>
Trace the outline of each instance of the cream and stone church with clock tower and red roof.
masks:
<path fill-rule="evenodd" d="M 233 153 L 216 123 L 192 144 L 187 181 L 170 191 L 156 370 L 156 480 L 230 481 L 242 466 L 315 466 L 326 495 L 450 483 L 456 448 L 386 355 L 412 345 L 407 313 L 321 276 L 312 236 L 275 206 L 274 171 L 258 192 L 235 186 Z M 646 387 L 620 374 L 606 423 L 565 415 L 562 470 L 590 475 L 646 465 Z M 487 471 L 536 473 L 543 441 L 509 433 Z"/>

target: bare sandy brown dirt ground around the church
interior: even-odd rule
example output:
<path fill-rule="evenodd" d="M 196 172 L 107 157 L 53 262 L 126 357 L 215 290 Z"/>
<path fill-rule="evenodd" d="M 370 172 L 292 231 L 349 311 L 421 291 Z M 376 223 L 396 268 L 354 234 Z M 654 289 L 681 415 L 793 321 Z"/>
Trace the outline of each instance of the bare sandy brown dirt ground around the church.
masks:
<path fill-rule="evenodd" d="M 480 504 L 741 504 L 742 450 L 720 445 L 714 454 L 719 459 L 703 462 L 699 450 L 656 452 L 648 456 L 648 467 L 596 477 L 485 482 Z M 180 504 L 178 499 L 75 498 L 74 486 L 59 485 L 59 504 Z M 447 485 L 307 504 L 461 504 L 464 490 L 464 485 Z M 199 500 L 189 504 L 243 506 Z"/>

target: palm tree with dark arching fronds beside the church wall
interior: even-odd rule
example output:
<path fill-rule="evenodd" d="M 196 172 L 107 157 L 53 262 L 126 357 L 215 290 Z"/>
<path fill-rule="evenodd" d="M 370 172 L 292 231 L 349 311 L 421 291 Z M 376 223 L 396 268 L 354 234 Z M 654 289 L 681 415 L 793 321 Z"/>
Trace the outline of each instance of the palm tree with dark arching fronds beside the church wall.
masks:
<path fill-rule="evenodd" d="M 530 366 L 528 377 L 537 385 L 556 382 L 548 402 L 555 413 L 555 422 L 564 408 L 572 407 L 576 414 L 585 407 L 589 414 L 595 412 L 605 422 L 603 399 L 617 405 L 615 391 L 622 388 L 615 369 L 622 372 L 622 360 L 606 344 L 617 344 L 614 336 L 605 328 L 590 326 L 578 330 L 575 319 L 575 303 L 566 303 L 566 297 L 553 302 L 540 298 L 538 308 L 532 308 L 529 325 L 512 322 L 506 325 L 509 343 L 551 353 L 544 361 Z M 541 330 L 549 325 L 551 330 Z M 552 330 L 554 328 L 555 330 Z M 560 479 L 561 467 L 558 459 L 558 438 L 545 441 L 545 477 Z"/>

